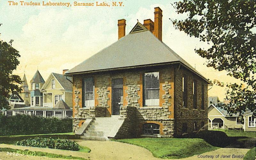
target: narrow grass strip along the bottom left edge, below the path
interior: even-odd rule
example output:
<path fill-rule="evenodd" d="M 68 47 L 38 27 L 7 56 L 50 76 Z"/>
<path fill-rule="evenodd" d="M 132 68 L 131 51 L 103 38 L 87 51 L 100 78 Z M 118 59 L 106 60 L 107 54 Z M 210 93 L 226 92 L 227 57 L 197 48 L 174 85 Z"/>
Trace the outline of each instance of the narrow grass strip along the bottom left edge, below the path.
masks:
<path fill-rule="evenodd" d="M 64 156 L 53 153 L 41 152 L 41 151 L 30 151 L 30 150 L 21 150 L 21 149 L 12 149 L 12 148 L 0 148 L 0 152 L 11 152 L 11 153 L 19 153 L 21 155 L 29 155 L 29 156 L 46 156 L 49 158 L 62 158 L 62 159 L 79 159 L 86 160 L 82 157 L 76 156 Z"/>

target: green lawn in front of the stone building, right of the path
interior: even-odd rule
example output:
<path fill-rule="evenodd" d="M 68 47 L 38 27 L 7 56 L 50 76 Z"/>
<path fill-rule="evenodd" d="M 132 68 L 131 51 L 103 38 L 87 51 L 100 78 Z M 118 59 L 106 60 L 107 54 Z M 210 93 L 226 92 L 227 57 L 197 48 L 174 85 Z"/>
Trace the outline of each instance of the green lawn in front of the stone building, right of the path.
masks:
<path fill-rule="evenodd" d="M 155 157 L 170 159 L 185 158 L 219 148 L 199 138 L 135 138 L 114 141 L 144 147 Z"/>

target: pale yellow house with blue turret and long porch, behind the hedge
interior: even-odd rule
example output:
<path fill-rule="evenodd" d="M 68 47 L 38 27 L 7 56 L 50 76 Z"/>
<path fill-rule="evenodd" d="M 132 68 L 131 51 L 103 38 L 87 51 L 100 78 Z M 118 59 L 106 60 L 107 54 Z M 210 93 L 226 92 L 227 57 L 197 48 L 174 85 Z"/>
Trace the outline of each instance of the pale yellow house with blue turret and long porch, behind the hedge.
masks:
<path fill-rule="evenodd" d="M 46 83 L 36 71 L 31 82 L 30 106 L 22 106 L 4 111 L 5 115 L 29 114 L 43 117 L 66 118 L 72 116 L 72 78 L 51 73 Z M 13 98 L 20 96 L 13 95 Z M 23 99 L 22 99 L 23 101 Z M 67 103 L 68 104 L 67 104 Z M 24 103 L 24 101 L 23 101 Z"/>

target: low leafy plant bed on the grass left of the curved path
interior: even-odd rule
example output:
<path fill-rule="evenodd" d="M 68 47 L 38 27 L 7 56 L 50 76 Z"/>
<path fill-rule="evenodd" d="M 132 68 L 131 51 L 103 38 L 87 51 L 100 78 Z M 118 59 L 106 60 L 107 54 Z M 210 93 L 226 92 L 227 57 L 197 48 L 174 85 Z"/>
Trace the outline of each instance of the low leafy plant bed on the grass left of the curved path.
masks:
<path fill-rule="evenodd" d="M 31 147 L 42 147 L 42 148 L 55 148 L 65 150 L 79 150 L 79 145 L 67 139 L 60 138 L 29 138 L 26 140 L 16 142 L 16 145 L 20 146 L 31 146 Z"/>

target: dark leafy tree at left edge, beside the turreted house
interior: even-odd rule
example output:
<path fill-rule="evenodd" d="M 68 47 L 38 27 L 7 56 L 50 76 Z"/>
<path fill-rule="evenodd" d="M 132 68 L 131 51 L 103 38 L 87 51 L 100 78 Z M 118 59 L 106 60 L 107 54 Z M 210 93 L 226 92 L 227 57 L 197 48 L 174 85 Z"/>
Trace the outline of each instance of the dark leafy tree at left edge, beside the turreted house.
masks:
<path fill-rule="evenodd" d="M 0 109 L 9 108 L 6 98 L 9 97 L 11 91 L 21 91 L 18 86 L 22 82 L 20 76 L 12 75 L 12 71 L 20 63 L 18 57 L 20 57 L 19 51 L 0 40 Z"/>

